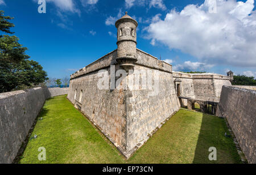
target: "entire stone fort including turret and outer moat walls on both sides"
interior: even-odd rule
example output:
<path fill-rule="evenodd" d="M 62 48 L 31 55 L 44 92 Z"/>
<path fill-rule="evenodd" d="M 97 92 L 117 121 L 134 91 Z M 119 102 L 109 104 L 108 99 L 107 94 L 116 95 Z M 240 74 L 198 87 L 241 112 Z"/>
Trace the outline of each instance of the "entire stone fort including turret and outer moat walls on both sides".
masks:
<path fill-rule="evenodd" d="M 69 88 L 0 93 L 0 164 L 19 155 L 44 102 L 67 93 L 127 158 L 181 106 L 193 109 L 198 103 L 201 112 L 210 104 L 212 114 L 226 119 L 236 147 L 256 163 L 255 86 L 231 86 L 231 71 L 227 76 L 172 71 L 172 65 L 137 49 L 136 20 L 126 13 L 115 26 L 118 49 L 72 74 Z"/>

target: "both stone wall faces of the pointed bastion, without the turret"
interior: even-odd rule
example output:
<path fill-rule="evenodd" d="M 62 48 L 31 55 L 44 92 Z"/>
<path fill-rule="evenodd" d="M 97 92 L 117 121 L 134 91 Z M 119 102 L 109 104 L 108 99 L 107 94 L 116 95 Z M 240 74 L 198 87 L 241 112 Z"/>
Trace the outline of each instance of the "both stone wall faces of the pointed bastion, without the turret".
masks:
<path fill-rule="evenodd" d="M 92 68 L 92 65 L 89 65 L 83 72 L 72 74 L 68 92 L 68 99 L 75 107 L 80 109 L 126 157 L 133 153 L 137 144 L 145 142 L 156 127 L 161 126 L 179 109 L 171 74 L 172 66 L 139 49 L 137 55 L 138 62 L 135 63 L 134 71 L 155 71 L 155 74 L 159 74 L 159 92 L 155 96 L 151 95 L 151 90 L 141 87 L 112 90 L 110 87 L 97 87 L 100 80 L 98 70 L 108 71 L 110 82 L 110 66 L 115 65 L 114 72 L 121 69 L 114 61 L 117 57 L 116 50 L 94 62 L 97 66 Z M 118 86 L 127 84 L 129 77 L 130 75 L 123 79 Z M 117 79 L 118 77 L 115 77 L 115 80 Z"/>

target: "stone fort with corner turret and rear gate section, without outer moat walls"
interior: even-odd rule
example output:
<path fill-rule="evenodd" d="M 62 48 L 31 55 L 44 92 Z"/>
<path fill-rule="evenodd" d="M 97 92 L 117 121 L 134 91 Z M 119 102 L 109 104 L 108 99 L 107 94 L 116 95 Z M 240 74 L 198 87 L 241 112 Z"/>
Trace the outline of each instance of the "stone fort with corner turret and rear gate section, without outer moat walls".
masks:
<path fill-rule="evenodd" d="M 115 22 L 115 27 L 117 49 L 72 74 L 67 98 L 123 155 L 130 157 L 180 106 L 193 108 L 193 103 L 201 102 L 203 108 L 205 101 L 217 103 L 222 86 L 231 86 L 233 74 L 172 71 L 172 65 L 137 48 L 138 23 L 127 12 Z M 125 78 L 111 88 L 111 79 L 114 77 L 115 85 L 115 73 L 119 70 L 125 70 Z M 141 74 L 133 74 L 137 70 L 151 71 L 153 77 L 158 75 L 158 78 L 152 78 L 154 84 L 158 83 L 156 95 L 151 94 L 153 89 L 142 86 L 117 88 L 132 76 L 143 82 Z M 100 71 L 109 75 L 109 88 L 98 88 Z"/>

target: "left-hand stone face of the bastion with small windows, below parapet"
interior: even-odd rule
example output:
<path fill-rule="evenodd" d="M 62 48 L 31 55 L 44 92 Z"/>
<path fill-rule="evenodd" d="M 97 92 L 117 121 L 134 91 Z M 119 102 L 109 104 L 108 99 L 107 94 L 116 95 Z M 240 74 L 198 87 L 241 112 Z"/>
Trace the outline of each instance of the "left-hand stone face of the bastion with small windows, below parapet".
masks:
<path fill-rule="evenodd" d="M 119 66 L 115 65 L 115 69 L 118 70 Z M 106 70 L 110 75 L 110 67 L 106 68 Z M 97 125 L 102 133 L 106 136 L 109 135 L 119 146 L 125 149 L 126 110 L 124 92 L 118 89 L 110 90 L 110 87 L 108 89 L 99 89 L 97 84 L 100 77 L 97 76 L 97 72 L 91 72 L 72 79 L 69 85 L 68 99 L 94 125 Z M 82 97 L 81 101 L 79 101 L 81 90 Z"/>

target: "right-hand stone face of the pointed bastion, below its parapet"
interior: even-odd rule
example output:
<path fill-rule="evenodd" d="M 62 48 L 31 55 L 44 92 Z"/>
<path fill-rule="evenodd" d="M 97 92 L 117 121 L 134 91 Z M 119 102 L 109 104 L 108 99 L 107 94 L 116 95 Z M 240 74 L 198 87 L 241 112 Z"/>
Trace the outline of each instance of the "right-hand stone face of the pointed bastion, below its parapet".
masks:
<path fill-rule="evenodd" d="M 137 65 L 134 70 L 152 69 Z M 172 74 L 156 71 L 159 72 L 159 92 L 156 95 L 152 95 L 148 88 L 126 91 L 128 151 L 139 142 L 146 142 L 148 134 L 179 109 Z"/>

